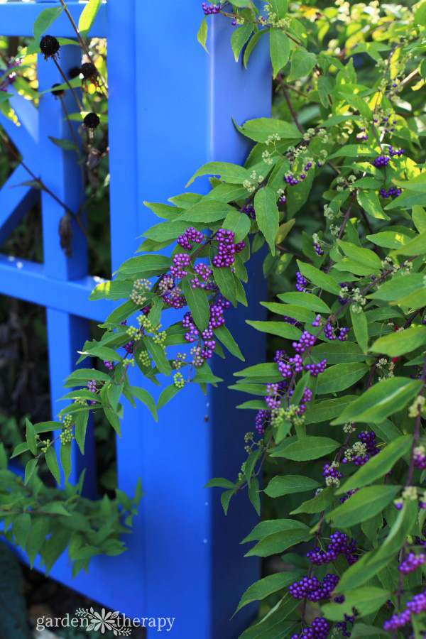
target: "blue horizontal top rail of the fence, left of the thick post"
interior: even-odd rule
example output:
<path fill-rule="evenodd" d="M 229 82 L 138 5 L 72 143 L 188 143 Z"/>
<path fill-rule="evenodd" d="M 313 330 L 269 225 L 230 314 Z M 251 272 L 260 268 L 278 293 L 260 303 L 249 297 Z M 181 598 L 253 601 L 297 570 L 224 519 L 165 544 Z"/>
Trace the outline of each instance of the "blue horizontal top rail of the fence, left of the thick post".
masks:
<path fill-rule="evenodd" d="M 1 35 L 21 35 L 25 37 L 33 37 L 33 24 L 44 9 L 50 6 L 60 6 L 59 1 L 43 2 L 43 3 L 27 3 L 27 2 L 7 2 L 1 5 Z M 81 2 L 67 2 L 75 23 L 82 12 L 83 6 Z M 67 16 L 62 15 L 55 20 L 55 23 L 49 28 L 51 35 L 61 36 L 62 38 L 74 38 L 75 31 L 72 28 Z M 107 37 L 107 11 L 106 6 L 102 5 L 99 14 L 94 22 L 90 35 L 96 38 Z"/>

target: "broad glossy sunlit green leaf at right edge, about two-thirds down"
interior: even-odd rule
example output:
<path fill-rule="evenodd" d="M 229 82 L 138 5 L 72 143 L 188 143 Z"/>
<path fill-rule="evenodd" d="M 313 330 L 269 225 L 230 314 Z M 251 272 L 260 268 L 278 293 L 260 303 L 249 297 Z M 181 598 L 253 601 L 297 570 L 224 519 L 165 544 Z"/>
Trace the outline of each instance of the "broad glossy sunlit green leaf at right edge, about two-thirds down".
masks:
<path fill-rule="evenodd" d="M 421 386 L 421 381 L 405 377 L 383 379 L 352 402 L 332 425 L 346 422 L 380 424 L 392 413 L 402 410 L 419 393 Z"/>

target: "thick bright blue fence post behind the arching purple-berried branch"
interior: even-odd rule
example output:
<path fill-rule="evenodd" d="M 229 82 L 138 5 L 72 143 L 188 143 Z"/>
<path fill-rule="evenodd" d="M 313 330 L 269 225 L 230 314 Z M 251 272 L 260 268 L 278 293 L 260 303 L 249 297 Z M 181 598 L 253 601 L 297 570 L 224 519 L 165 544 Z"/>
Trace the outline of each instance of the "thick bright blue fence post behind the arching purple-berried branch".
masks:
<path fill-rule="evenodd" d="M 241 123 L 270 113 L 264 48 L 245 71 L 231 53 L 231 26 L 216 16 L 209 21 L 207 56 L 196 38 L 200 3 L 188 5 L 182 11 L 173 0 L 162 3 L 159 37 L 140 1 L 107 3 L 114 25 L 108 43 L 114 268 L 136 250 L 136 235 L 158 222 L 143 200 L 166 202 L 183 192 L 192 173 L 209 160 L 243 161 L 249 146 L 231 117 Z M 205 182 L 192 185 L 203 188 Z M 253 268 L 251 319 L 262 317 L 258 300 L 264 295 L 259 269 Z M 263 339 L 244 327 L 244 312 L 229 312 L 233 325 L 246 365 L 262 361 Z M 229 381 L 229 371 L 241 363 L 226 361 L 226 368 L 214 366 Z M 226 519 L 219 491 L 202 488 L 217 474 L 234 477 L 244 460 L 243 437 L 253 422 L 231 408 L 237 402 L 225 383 L 207 397 L 185 388 L 160 410 L 158 425 L 144 408 L 125 410 L 117 444 L 119 487 L 131 490 L 141 475 L 146 490 L 130 540 L 136 555 L 129 554 L 134 579 L 142 571 L 143 584 L 129 595 L 128 614 L 175 617 L 177 638 L 235 638 L 255 614 L 248 606 L 229 621 L 239 596 L 259 578 L 257 559 L 244 559 L 239 545 L 256 515 L 241 495 Z"/>

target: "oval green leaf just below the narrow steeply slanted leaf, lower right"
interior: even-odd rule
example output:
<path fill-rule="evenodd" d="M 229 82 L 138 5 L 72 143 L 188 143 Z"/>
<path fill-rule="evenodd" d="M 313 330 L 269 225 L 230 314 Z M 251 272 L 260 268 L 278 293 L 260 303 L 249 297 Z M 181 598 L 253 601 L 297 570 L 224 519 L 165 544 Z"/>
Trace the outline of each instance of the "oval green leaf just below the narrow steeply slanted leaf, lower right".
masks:
<path fill-rule="evenodd" d="M 326 520 L 334 528 L 349 528 L 380 513 L 399 491 L 400 486 L 366 486 L 334 508 Z"/>

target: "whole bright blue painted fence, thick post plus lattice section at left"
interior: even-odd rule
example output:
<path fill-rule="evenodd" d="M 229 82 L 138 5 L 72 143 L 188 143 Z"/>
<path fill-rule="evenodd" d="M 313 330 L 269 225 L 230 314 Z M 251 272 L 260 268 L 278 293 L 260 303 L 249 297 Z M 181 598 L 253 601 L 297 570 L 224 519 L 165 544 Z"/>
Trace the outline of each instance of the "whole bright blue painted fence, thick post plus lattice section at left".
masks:
<path fill-rule="evenodd" d="M 32 35 L 40 11 L 58 5 L 45 0 L 0 4 L 1 35 Z M 163 0 L 160 8 L 147 8 L 143 0 L 107 0 L 92 28 L 91 35 L 108 38 L 113 271 L 136 251 L 136 237 L 154 223 L 143 200 L 166 202 L 183 192 L 190 175 L 209 160 L 244 160 L 248 146 L 231 117 L 241 123 L 270 113 L 265 50 L 259 48 L 249 71 L 244 70 L 231 53 L 231 26 L 213 17 L 207 55 L 195 37 L 202 18 L 200 2 L 185 5 Z M 82 3 L 70 1 L 67 6 L 78 21 Z M 64 13 L 49 33 L 75 37 Z M 62 68 L 80 62 L 79 48 L 62 48 Z M 38 77 L 40 90 L 61 81 L 55 66 L 41 57 Z M 67 95 L 66 102 L 70 111 L 76 110 L 72 96 Z M 44 94 L 36 110 L 16 96 L 13 107 L 21 126 L 3 117 L 1 125 L 28 167 L 75 209 L 80 172 L 72 153 L 48 138 L 70 135 L 60 102 Z M 0 190 L 0 246 L 40 197 L 30 187 L 11 188 L 26 180 L 25 170 L 17 168 Z M 87 300 L 97 280 L 87 273 L 82 233 L 74 229 L 72 257 L 65 257 L 58 239 L 63 211 L 45 193 L 41 205 L 44 264 L 0 255 L 0 293 L 46 307 L 52 410 L 57 415 L 62 380 L 75 366 L 76 351 L 89 334 L 88 322 L 102 322 L 111 306 Z M 261 317 L 256 302 L 265 294 L 259 271 L 255 264 L 248 286 L 251 319 Z M 229 327 L 238 332 L 247 365 L 262 361 L 264 344 L 244 327 L 244 312 L 229 313 Z M 231 365 L 216 361 L 214 371 L 229 383 L 232 366 L 238 367 L 236 360 Z M 144 381 L 135 373 L 133 383 Z M 129 550 L 119 557 L 95 557 L 89 573 L 74 580 L 65 553 L 52 577 L 130 617 L 175 617 L 171 634 L 176 638 L 238 636 L 256 613 L 247 606 L 229 622 L 240 594 L 259 577 L 257 559 L 244 559 L 239 545 L 255 523 L 253 509 L 242 495 L 225 518 L 219 494 L 202 488 L 213 476 L 235 476 L 244 460 L 243 435 L 253 426 L 241 415 L 246 411 L 232 408 L 235 403 L 226 383 L 206 397 L 198 388 L 185 389 L 160 411 L 158 425 L 143 407 L 126 405 L 123 436 L 117 441 L 118 486 L 133 493 L 141 476 L 146 491 L 133 534 L 126 536 Z M 92 469 L 85 493 L 95 497 L 93 445 L 84 463 Z M 71 481 L 82 465 L 75 452 Z"/>

